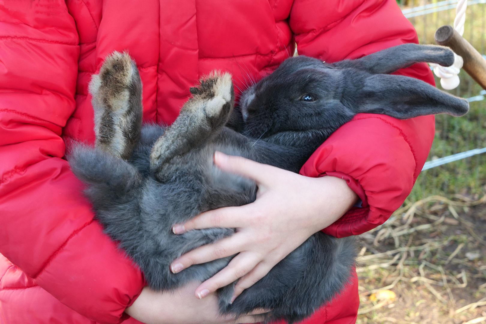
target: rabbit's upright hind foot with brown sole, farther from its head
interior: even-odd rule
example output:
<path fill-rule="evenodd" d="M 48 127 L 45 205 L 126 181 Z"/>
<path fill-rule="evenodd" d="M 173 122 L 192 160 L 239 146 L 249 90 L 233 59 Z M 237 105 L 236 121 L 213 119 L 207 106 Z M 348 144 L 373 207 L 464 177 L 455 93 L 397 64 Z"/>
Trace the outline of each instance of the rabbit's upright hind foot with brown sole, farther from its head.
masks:
<path fill-rule="evenodd" d="M 92 76 L 96 147 L 127 159 L 140 137 L 142 84 L 130 55 L 114 51 Z"/>

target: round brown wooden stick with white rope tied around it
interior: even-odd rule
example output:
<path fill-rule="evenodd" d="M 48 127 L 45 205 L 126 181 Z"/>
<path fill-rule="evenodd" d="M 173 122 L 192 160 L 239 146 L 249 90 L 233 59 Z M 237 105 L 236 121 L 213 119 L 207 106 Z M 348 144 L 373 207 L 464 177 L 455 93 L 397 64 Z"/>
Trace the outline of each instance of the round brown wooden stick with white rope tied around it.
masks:
<path fill-rule="evenodd" d="M 451 26 L 445 25 L 435 32 L 435 42 L 448 46 L 457 55 L 464 59 L 462 68 L 479 84 L 486 89 L 486 60 L 472 47 L 469 42 L 457 33 Z"/>

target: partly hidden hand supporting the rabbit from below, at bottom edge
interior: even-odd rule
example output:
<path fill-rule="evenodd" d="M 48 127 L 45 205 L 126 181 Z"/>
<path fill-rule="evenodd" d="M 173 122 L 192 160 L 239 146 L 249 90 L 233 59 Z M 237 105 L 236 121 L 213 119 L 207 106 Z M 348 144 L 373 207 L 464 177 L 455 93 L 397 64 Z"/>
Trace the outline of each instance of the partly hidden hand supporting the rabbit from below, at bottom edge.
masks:
<path fill-rule="evenodd" d="M 238 319 L 220 315 L 217 294 L 212 293 L 199 300 L 194 296 L 198 285 L 198 282 L 189 283 L 172 292 L 156 292 L 144 287 L 125 313 L 145 324 L 239 324 L 265 319 L 265 315 L 249 314 Z M 253 313 L 264 312 L 256 310 Z"/>

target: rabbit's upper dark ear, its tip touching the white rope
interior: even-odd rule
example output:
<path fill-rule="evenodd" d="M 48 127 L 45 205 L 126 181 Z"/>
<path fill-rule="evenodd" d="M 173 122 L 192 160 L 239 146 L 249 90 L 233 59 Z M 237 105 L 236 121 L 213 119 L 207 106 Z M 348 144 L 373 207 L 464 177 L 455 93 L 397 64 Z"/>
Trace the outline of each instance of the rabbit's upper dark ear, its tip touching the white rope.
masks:
<path fill-rule="evenodd" d="M 454 63 L 454 53 L 445 46 L 402 44 L 366 55 L 357 60 L 334 63 L 337 68 L 358 68 L 372 74 L 388 74 L 418 62 L 437 63 L 450 67 Z"/>

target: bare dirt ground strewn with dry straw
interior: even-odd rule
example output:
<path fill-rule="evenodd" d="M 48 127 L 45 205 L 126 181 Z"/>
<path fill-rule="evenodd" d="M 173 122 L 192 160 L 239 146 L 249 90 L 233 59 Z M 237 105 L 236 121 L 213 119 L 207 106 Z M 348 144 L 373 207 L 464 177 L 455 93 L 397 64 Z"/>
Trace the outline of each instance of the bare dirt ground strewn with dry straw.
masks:
<path fill-rule="evenodd" d="M 363 235 L 357 323 L 486 324 L 486 199 L 434 197 Z"/>

